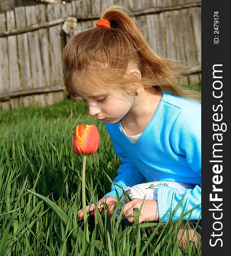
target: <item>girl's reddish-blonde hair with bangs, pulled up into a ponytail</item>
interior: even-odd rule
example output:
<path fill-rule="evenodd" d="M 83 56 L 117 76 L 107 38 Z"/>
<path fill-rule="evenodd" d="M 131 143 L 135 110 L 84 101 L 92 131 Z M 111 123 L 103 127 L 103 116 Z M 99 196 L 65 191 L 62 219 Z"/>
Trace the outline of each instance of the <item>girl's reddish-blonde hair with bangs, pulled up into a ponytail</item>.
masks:
<path fill-rule="evenodd" d="M 111 6 L 101 15 L 110 28 L 96 26 L 74 35 L 62 52 L 63 80 L 71 96 L 75 89 L 97 93 L 102 89 L 134 92 L 139 85 L 155 94 L 160 90 L 200 101 L 200 94 L 182 87 L 176 61 L 160 58 L 148 45 L 133 21 L 134 16 L 122 6 Z M 134 64 L 141 81 L 125 74 Z"/>

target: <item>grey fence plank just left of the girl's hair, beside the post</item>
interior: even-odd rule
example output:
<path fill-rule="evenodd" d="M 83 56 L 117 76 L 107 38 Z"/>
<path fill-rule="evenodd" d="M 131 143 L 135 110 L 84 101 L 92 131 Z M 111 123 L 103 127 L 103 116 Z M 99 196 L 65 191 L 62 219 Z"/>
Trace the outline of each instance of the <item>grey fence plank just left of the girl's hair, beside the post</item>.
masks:
<path fill-rule="evenodd" d="M 48 21 L 55 20 L 61 16 L 60 5 L 47 6 Z M 52 84 L 58 85 L 62 83 L 62 67 L 61 67 L 61 25 L 52 26 L 48 29 L 50 38 L 51 67 L 52 67 Z"/>

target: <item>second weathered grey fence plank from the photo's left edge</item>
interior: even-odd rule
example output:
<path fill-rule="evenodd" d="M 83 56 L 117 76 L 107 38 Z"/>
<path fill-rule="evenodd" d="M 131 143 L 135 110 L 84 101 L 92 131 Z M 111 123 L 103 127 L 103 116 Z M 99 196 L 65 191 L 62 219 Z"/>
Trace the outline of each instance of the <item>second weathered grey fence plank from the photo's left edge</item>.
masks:
<path fill-rule="evenodd" d="M 6 12 L 7 30 L 15 29 L 14 11 Z M 10 90 L 20 90 L 20 77 L 17 55 L 17 37 L 11 35 L 8 38 L 9 64 L 10 64 Z"/>

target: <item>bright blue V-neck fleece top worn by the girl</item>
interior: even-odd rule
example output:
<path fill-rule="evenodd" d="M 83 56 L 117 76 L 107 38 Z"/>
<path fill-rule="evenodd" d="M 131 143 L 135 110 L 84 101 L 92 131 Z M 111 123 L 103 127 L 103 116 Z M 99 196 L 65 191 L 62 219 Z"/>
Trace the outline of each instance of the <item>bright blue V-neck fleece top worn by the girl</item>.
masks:
<path fill-rule="evenodd" d="M 157 204 L 159 218 L 166 222 L 170 209 L 175 209 L 183 197 L 182 204 L 173 216 L 173 221 L 185 211 L 197 207 L 191 213 L 191 219 L 201 218 L 201 105 L 163 92 L 163 97 L 151 121 L 140 138 L 131 142 L 120 123 L 108 124 L 106 129 L 111 137 L 114 151 L 121 158 L 122 165 L 114 183 L 122 186 L 134 186 L 151 181 L 178 181 L 195 184 L 187 189 L 184 197 L 177 189 L 158 185 Z M 119 195 L 122 189 L 116 187 Z M 115 186 L 105 197 L 116 198 Z M 186 220 L 188 215 L 183 219 Z"/>

